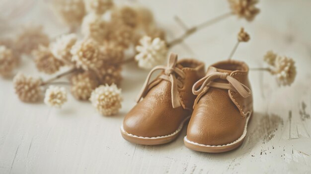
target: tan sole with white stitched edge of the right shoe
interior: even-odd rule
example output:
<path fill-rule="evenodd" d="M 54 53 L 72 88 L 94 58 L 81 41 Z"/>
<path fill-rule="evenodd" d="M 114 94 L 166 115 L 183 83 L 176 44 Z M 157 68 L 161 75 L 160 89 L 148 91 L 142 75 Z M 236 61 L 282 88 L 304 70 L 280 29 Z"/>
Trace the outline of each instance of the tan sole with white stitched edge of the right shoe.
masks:
<path fill-rule="evenodd" d="M 233 150 L 237 147 L 239 147 L 245 136 L 246 136 L 246 133 L 247 133 L 247 124 L 251 118 L 251 113 L 250 112 L 246 118 L 246 124 L 244 126 L 244 131 L 243 131 L 243 134 L 235 141 L 233 141 L 232 143 L 229 143 L 229 144 L 225 144 L 225 145 L 218 145 L 218 146 L 215 146 L 215 145 L 205 145 L 205 144 L 200 144 L 200 143 L 196 143 L 196 142 L 193 142 L 193 141 L 190 141 L 187 139 L 187 136 L 184 137 L 184 143 L 185 143 L 185 146 L 189 149 L 192 149 L 192 150 L 195 150 L 195 151 L 200 151 L 200 152 L 209 152 L 209 153 L 220 153 L 220 152 L 227 152 L 227 151 L 230 151 L 230 150 Z"/>

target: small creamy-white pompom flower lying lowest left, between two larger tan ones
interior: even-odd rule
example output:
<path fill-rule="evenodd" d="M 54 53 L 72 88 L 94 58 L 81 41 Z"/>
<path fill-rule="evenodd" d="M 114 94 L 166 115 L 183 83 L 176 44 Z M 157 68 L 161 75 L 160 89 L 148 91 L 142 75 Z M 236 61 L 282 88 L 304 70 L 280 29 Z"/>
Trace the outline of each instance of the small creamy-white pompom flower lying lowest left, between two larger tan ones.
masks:
<path fill-rule="evenodd" d="M 61 108 L 67 102 L 67 92 L 64 87 L 49 86 L 45 92 L 44 103 L 50 107 Z"/>

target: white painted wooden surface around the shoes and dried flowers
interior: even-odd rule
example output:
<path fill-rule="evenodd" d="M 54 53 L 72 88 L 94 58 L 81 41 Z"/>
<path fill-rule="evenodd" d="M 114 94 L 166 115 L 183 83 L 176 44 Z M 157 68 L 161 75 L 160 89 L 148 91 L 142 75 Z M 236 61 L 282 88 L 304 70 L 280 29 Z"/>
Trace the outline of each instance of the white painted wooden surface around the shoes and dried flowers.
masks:
<path fill-rule="evenodd" d="M 169 38 L 183 32 L 174 15 L 191 26 L 229 9 L 226 0 L 141 3 L 153 9 Z M 222 154 L 191 151 L 183 144 L 185 128 L 178 139 L 165 145 L 125 141 L 119 128 L 147 75 L 130 64 L 124 70 L 123 108 L 111 117 L 100 116 L 88 102 L 71 95 L 61 110 L 22 103 L 12 80 L 0 79 L 0 174 L 311 173 L 311 1 L 266 0 L 258 6 L 261 13 L 252 23 L 231 17 L 172 50 L 208 66 L 228 57 L 239 27 L 244 26 L 251 40 L 240 44 L 234 58 L 259 67 L 266 51 L 274 50 L 296 60 L 298 74 L 290 87 L 279 88 L 266 72 L 250 72 L 255 113 L 238 149 Z M 18 19 L 29 21 L 43 23 L 54 35 L 64 31 L 44 1 L 35 1 L 29 14 Z M 23 59 L 21 64 L 20 71 L 36 74 L 32 62 Z"/>

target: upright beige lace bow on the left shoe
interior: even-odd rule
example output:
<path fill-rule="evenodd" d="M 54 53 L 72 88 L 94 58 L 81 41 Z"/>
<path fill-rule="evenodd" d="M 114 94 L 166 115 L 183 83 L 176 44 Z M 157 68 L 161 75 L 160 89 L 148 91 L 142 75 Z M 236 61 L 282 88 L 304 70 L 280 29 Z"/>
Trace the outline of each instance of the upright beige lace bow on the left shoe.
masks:
<path fill-rule="evenodd" d="M 156 67 L 154 67 L 148 74 L 147 79 L 143 85 L 143 88 L 139 94 L 138 99 L 136 100 L 136 102 L 139 102 L 143 97 L 146 96 L 147 92 L 154 87 L 159 81 L 155 80 L 151 83 L 149 83 L 150 78 L 152 76 L 152 74 L 156 71 L 156 70 L 162 70 L 164 73 L 161 74 L 158 79 L 160 80 L 166 80 L 169 81 L 171 83 L 171 100 L 172 100 L 172 106 L 173 108 L 177 108 L 180 107 L 180 101 L 179 101 L 179 95 L 178 95 L 178 87 L 182 88 L 183 84 L 181 81 L 179 81 L 176 78 L 176 74 L 178 76 L 180 76 L 181 78 L 185 78 L 185 73 L 176 67 L 176 63 L 177 63 L 177 55 L 175 54 L 171 54 L 169 59 L 168 59 L 168 63 L 167 66 L 163 66 L 163 65 L 158 65 Z"/>

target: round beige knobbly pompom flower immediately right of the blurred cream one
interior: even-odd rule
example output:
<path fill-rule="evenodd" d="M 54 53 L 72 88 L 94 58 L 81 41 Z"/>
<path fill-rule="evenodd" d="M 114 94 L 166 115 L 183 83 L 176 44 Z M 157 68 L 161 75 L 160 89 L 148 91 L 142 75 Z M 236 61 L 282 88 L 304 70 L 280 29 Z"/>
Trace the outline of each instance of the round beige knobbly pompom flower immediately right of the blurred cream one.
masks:
<path fill-rule="evenodd" d="M 72 61 L 84 70 L 94 69 L 102 64 L 98 43 L 91 39 L 78 41 L 71 49 Z"/>

